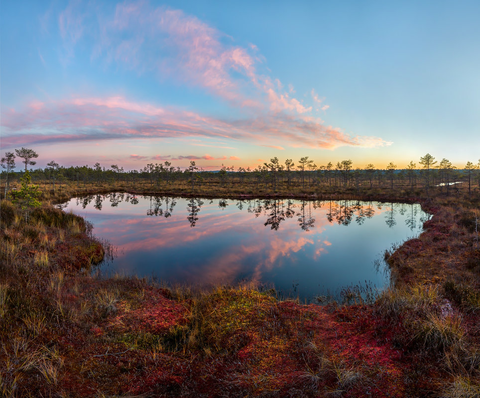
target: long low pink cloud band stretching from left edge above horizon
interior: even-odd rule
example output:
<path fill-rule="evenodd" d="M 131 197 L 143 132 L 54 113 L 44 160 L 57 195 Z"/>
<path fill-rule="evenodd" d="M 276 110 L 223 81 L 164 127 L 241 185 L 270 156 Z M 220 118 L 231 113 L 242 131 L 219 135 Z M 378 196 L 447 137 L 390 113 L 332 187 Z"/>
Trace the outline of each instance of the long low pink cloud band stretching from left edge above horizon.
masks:
<path fill-rule="evenodd" d="M 376 147 L 390 143 L 377 137 L 352 137 L 320 119 L 287 114 L 227 121 L 191 111 L 160 108 L 123 97 L 74 98 L 6 109 L 1 114 L 2 148 L 67 141 L 132 138 L 217 137 L 273 146 L 334 149 Z M 268 144 L 267 144 L 268 143 Z M 285 144 L 284 144 L 285 145 Z M 283 147 L 282 147 L 283 148 Z"/>

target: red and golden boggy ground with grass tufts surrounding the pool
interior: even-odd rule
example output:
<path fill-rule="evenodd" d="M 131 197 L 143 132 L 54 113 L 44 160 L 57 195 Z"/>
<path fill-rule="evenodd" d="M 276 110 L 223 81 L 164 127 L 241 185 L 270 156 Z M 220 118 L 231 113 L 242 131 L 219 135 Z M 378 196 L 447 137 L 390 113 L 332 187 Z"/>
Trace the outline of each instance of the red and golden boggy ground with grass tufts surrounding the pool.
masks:
<path fill-rule="evenodd" d="M 1 202 L 0 395 L 480 394 L 478 196 L 400 187 L 192 192 L 182 184 L 69 184 L 53 192 L 40 183 L 44 204 L 28 222 Z M 433 217 L 420 237 L 386 253 L 395 285 L 374 303 L 301 305 L 253 287 L 191 292 L 92 274 L 102 245 L 88 223 L 51 204 L 111 191 L 417 201 Z"/>

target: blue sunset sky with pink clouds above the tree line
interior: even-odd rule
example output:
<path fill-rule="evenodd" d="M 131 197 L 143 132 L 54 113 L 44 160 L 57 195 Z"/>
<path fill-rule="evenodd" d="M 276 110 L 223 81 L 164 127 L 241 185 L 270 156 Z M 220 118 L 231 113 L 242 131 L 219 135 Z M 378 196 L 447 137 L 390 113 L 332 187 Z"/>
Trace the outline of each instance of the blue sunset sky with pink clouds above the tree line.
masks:
<path fill-rule="evenodd" d="M 1 154 L 463 167 L 480 158 L 479 20 L 478 0 L 1 1 Z"/>

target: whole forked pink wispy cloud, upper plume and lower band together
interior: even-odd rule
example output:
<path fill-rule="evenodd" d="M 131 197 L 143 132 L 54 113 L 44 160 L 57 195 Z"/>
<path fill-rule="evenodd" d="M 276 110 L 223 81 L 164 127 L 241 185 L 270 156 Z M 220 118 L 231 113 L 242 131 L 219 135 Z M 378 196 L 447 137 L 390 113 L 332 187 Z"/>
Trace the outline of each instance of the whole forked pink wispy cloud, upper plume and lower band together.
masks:
<path fill-rule="evenodd" d="M 312 105 L 293 96 L 291 84 L 285 89 L 280 80 L 269 76 L 256 46 L 233 45 L 231 38 L 195 16 L 148 1 L 124 1 L 114 10 L 102 10 L 71 1 L 60 13 L 58 29 L 66 58 L 74 57 L 76 46 L 90 36 L 97 43 L 92 48 L 93 62 L 115 63 L 140 74 L 201 87 L 227 100 L 235 116 L 218 118 L 136 102 L 124 95 L 74 95 L 16 109 L 2 107 L 2 148 L 168 137 L 231 139 L 278 150 L 390 144 L 326 125 L 312 115 Z M 316 109 L 327 109 L 314 90 L 311 94 Z M 205 141 L 192 145 L 216 147 Z"/>

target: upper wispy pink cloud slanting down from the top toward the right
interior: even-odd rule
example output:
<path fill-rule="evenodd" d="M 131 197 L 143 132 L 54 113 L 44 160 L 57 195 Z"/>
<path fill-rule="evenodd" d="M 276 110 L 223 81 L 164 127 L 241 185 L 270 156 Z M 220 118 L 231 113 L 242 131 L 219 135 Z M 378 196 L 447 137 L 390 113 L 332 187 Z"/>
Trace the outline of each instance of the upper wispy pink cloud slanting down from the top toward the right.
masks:
<path fill-rule="evenodd" d="M 287 92 L 280 80 L 268 76 L 255 45 L 232 46 L 224 33 L 182 10 L 124 1 L 114 14 L 87 18 L 85 12 L 82 4 L 70 3 L 59 29 L 71 49 L 87 30 L 94 35 L 93 59 L 200 86 L 241 107 L 297 114 L 312 110 L 290 97 L 295 92 L 291 84 Z M 97 27 L 89 25 L 92 20 Z"/>

